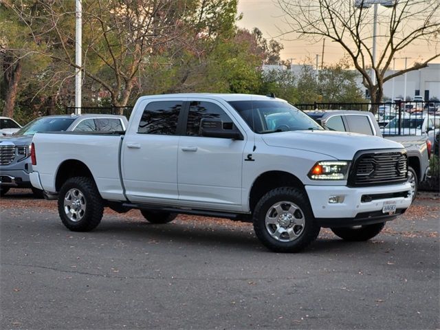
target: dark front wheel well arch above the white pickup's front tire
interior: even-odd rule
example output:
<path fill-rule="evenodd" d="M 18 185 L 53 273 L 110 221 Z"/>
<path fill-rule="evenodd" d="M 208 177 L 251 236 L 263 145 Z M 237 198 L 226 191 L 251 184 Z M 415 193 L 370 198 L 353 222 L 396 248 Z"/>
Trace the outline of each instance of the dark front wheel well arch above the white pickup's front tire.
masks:
<path fill-rule="evenodd" d="M 307 192 L 304 188 L 304 184 L 300 179 L 298 179 L 298 177 L 296 177 L 292 173 L 284 172 L 281 170 L 272 170 L 259 175 L 259 177 L 257 177 L 252 184 L 249 195 L 250 211 L 253 212 L 256 203 L 259 202 L 263 195 L 265 195 L 270 190 L 278 187 L 300 188 L 304 191 L 307 199 L 309 199 L 309 197 L 307 196 Z"/>

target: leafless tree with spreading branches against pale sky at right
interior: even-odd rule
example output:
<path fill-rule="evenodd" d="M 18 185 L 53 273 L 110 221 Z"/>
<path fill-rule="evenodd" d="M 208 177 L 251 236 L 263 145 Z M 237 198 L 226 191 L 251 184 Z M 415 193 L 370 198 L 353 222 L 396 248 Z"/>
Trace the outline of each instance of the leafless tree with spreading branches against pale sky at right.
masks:
<path fill-rule="evenodd" d="M 380 15 L 381 26 L 377 40 L 380 51 L 373 63 L 372 30 L 373 10 L 368 10 L 370 0 L 278 0 L 285 12 L 291 31 L 300 37 L 316 42 L 322 38 L 338 43 L 349 54 L 353 65 L 362 75 L 364 86 L 369 90 L 371 101 L 380 102 L 384 83 L 388 80 L 427 67 L 440 56 L 439 0 L 390 0 L 388 9 Z M 386 71 L 397 54 L 404 54 L 410 45 L 434 45 L 434 54 L 386 76 Z M 423 47 L 423 46 L 421 46 Z M 423 50 L 426 48 L 423 47 Z M 421 51 L 423 54 L 423 51 Z M 369 74 L 373 68 L 377 81 Z M 373 107 L 373 109 L 375 109 Z"/>

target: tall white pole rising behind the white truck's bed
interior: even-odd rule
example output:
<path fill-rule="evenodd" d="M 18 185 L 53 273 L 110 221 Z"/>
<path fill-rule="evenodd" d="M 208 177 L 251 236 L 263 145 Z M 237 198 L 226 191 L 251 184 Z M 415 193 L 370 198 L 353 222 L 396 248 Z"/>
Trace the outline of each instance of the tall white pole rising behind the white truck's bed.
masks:
<path fill-rule="evenodd" d="M 75 12 L 75 113 L 81 114 L 81 83 L 83 80 L 80 67 L 82 64 L 81 52 L 83 51 L 83 5 L 81 0 L 76 0 Z"/>

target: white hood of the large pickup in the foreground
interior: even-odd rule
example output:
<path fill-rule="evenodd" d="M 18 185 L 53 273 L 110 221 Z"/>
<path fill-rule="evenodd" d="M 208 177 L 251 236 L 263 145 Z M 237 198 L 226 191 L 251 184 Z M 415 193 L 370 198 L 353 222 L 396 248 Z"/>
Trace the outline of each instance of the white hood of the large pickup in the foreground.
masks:
<path fill-rule="evenodd" d="M 329 159 L 353 159 L 357 151 L 403 148 L 397 142 L 382 137 L 336 131 L 287 131 L 263 135 L 269 146 L 322 153 Z M 323 159 L 325 160 L 325 159 Z"/>

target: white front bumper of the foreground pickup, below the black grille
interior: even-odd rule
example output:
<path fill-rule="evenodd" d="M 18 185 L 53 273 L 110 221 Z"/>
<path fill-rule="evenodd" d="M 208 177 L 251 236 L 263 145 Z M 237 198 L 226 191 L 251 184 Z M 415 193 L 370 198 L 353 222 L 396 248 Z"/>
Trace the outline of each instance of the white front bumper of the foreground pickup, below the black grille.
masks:
<path fill-rule="evenodd" d="M 311 209 L 322 227 L 363 225 L 390 220 L 411 205 L 410 184 L 349 188 L 305 186 Z M 395 202 L 395 213 L 382 212 L 384 203 Z"/>

